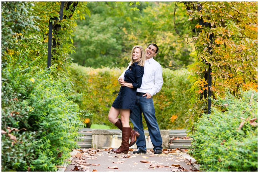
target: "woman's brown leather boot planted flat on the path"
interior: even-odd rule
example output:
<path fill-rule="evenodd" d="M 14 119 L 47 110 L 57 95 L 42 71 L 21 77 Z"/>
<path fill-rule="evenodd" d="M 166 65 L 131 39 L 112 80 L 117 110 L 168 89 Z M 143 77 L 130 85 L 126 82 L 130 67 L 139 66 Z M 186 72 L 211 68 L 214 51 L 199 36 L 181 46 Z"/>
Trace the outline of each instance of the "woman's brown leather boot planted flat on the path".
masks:
<path fill-rule="evenodd" d="M 121 146 L 117 149 L 112 149 L 113 152 L 120 153 L 128 153 L 129 152 L 129 136 L 130 136 L 131 127 L 122 127 L 122 139 Z"/>

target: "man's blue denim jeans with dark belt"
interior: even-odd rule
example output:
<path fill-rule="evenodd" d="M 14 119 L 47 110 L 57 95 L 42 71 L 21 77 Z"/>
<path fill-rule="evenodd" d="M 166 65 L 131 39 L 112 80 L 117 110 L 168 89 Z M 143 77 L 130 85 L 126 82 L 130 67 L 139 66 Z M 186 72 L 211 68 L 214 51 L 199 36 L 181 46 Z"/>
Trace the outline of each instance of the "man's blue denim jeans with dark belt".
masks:
<path fill-rule="evenodd" d="M 142 112 L 146 120 L 151 142 L 154 146 L 153 150 L 162 150 L 162 137 L 157 124 L 157 118 L 155 116 L 153 99 L 146 98 L 146 96 L 137 96 L 135 106 L 129 116 L 131 122 L 134 125 L 134 130 L 140 134 L 136 141 L 137 148 L 141 148 L 142 150 L 146 151 L 146 139 L 142 125 Z"/>

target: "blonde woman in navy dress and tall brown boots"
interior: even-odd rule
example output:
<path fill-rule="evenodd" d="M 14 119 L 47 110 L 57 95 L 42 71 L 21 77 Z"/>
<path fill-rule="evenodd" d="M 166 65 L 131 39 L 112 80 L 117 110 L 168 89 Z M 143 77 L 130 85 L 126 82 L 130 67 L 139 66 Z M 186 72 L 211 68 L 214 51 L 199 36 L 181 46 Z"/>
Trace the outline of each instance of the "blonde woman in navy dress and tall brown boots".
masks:
<path fill-rule="evenodd" d="M 140 88 L 144 74 L 145 53 L 142 46 L 134 46 L 131 51 L 129 68 L 125 71 L 125 84 L 121 86 L 118 96 L 110 109 L 108 120 L 122 131 L 122 143 L 115 153 L 127 153 L 136 142 L 139 133 L 129 126 L 129 114 L 136 102 L 137 88 Z M 121 118 L 118 118 L 121 114 Z M 130 138 L 130 143 L 129 143 Z"/>

